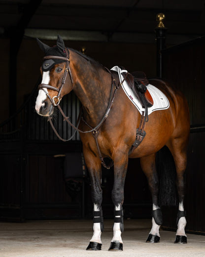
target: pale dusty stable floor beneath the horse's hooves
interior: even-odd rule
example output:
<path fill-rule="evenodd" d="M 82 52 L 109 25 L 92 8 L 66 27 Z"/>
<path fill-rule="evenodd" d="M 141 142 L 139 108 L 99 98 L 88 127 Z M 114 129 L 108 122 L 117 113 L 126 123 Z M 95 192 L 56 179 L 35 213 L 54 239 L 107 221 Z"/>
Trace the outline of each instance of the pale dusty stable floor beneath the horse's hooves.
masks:
<path fill-rule="evenodd" d="M 108 252 L 112 220 L 104 220 L 102 251 L 86 251 L 92 220 L 29 220 L 0 222 L 0 257 L 205 257 L 205 236 L 187 234 L 188 243 L 173 244 L 175 233 L 160 231 L 160 243 L 145 240 L 151 220 L 125 220 L 123 252 Z"/>

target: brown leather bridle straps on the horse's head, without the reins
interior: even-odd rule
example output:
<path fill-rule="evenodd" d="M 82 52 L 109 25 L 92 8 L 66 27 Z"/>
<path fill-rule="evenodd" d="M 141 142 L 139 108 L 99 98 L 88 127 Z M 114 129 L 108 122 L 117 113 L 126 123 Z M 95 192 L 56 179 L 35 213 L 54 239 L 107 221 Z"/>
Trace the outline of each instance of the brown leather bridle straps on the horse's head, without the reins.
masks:
<path fill-rule="evenodd" d="M 62 84 L 59 88 L 56 88 L 54 86 L 50 86 L 50 85 L 47 85 L 47 84 L 40 84 L 38 86 L 38 89 L 42 89 L 45 93 L 46 93 L 46 96 L 49 98 L 49 100 L 51 101 L 52 105 L 53 106 L 57 106 L 60 101 L 61 101 L 61 91 L 63 89 L 63 86 L 66 82 L 66 78 L 67 78 L 67 75 L 68 75 L 68 72 L 69 72 L 69 75 L 70 75 L 70 80 L 71 80 L 71 83 L 73 84 L 73 80 L 72 80 L 72 74 L 71 74 L 71 71 L 70 71 L 70 67 L 69 67 L 69 63 L 70 63 L 70 60 L 69 60 L 69 51 L 67 48 L 64 49 L 65 53 L 66 53 L 66 57 L 63 57 L 63 56 L 55 56 L 55 55 L 48 55 L 48 56 L 44 56 L 43 59 L 44 60 L 47 60 L 47 59 L 61 59 L 61 60 L 65 60 L 66 61 L 66 68 L 65 68 L 65 71 L 64 71 L 64 77 L 62 79 Z M 52 89 L 54 91 L 57 91 L 58 92 L 58 95 L 54 96 L 53 98 L 51 98 L 51 96 L 49 95 L 48 92 L 46 92 L 46 90 L 44 88 L 48 88 L 48 89 Z M 58 102 L 55 103 L 55 98 L 57 98 Z"/>

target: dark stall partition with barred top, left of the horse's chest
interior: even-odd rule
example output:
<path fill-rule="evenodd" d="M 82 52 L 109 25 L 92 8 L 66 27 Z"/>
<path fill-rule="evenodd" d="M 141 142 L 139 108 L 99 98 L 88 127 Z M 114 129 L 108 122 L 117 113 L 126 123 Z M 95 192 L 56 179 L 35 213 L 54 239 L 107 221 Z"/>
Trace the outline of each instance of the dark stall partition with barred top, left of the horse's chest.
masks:
<path fill-rule="evenodd" d="M 82 190 L 73 202 L 63 173 L 65 154 L 82 152 L 79 134 L 69 142 L 58 140 L 47 120 L 34 112 L 36 93 L 0 125 L 0 219 L 82 217 Z M 62 100 L 62 108 L 75 124 L 80 102 L 73 93 Z M 54 124 L 61 136 L 71 136 L 73 129 L 59 113 Z"/>

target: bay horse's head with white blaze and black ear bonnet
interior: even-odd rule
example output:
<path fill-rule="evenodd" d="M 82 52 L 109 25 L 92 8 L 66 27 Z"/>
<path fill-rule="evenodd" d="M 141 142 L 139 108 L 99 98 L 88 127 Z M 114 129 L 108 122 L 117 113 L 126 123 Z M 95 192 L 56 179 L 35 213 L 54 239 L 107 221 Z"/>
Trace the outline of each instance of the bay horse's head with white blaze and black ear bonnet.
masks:
<path fill-rule="evenodd" d="M 38 96 L 35 110 L 41 116 L 50 116 L 54 106 L 62 97 L 72 90 L 72 76 L 69 68 L 69 50 L 63 39 L 58 35 L 57 45 L 50 47 L 37 39 L 41 50 L 44 51 L 44 61 L 40 67 L 42 82 L 38 86 Z M 69 73 L 69 76 L 67 76 Z"/>

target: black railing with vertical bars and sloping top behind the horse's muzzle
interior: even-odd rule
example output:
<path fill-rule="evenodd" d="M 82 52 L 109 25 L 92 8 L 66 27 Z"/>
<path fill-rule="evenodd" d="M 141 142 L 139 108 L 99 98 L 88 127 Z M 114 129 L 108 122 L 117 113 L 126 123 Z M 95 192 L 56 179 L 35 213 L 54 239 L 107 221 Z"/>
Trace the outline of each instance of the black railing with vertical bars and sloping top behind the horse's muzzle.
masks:
<path fill-rule="evenodd" d="M 40 79 L 21 108 L 12 117 L 0 124 L 0 141 L 20 140 L 22 133 L 25 140 L 59 140 L 47 119 L 37 115 L 35 112 L 34 106 L 39 83 Z M 73 92 L 64 96 L 61 102 L 63 111 L 66 116 L 70 117 L 70 121 L 74 125 L 76 125 L 80 112 L 80 105 Z M 54 110 L 53 123 L 63 138 L 67 139 L 74 133 L 74 129 L 64 122 L 64 118 L 57 108 Z M 72 140 L 80 140 L 79 134 L 76 133 Z"/>

